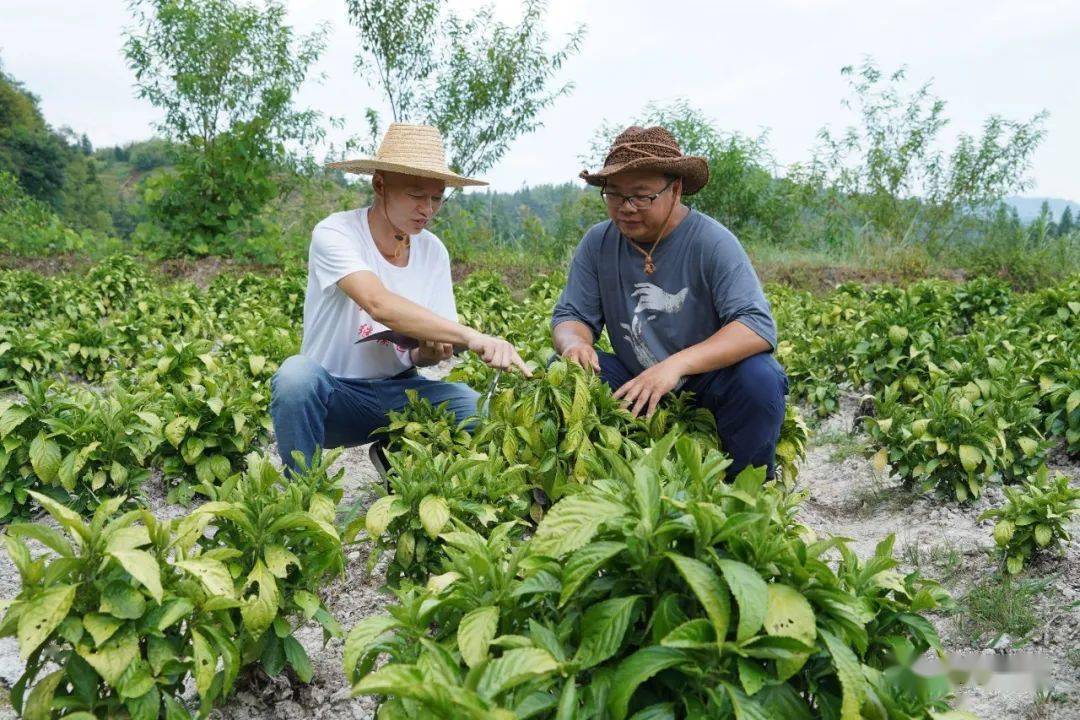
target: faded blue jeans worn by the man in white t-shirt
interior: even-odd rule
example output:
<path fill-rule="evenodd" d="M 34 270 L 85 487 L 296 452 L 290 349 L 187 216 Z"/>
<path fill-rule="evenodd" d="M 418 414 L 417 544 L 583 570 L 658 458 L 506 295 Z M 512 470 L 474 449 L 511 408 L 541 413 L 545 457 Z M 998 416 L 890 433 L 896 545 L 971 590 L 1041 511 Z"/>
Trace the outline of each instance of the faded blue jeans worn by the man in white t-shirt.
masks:
<path fill-rule="evenodd" d="M 370 441 L 372 431 L 388 423 L 387 413 L 408 403 L 415 390 L 432 405 L 446 403 L 458 421 L 475 415 L 472 388 L 458 382 L 429 380 L 419 375 L 384 380 L 355 380 L 332 376 L 306 355 L 287 357 L 270 380 L 270 417 L 284 465 L 296 472 L 293 450 L 311 462 L 315 447 L 353 447 Z"/>

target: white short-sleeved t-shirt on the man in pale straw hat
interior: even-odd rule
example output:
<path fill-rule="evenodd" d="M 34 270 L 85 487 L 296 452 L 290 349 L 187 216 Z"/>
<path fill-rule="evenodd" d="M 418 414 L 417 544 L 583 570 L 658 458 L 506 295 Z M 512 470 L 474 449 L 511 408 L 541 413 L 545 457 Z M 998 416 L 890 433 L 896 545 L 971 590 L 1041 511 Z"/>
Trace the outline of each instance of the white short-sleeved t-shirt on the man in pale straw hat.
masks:
<path fill-rule="evenodd" d="M 408 352 L 382 341 L 356 340 L 387 329 L 337 286 L 360 270 L 374 272 L 387 289 L 457 321 L 450 256 L 427 230 L 411 235 L 408 264 L 391 264 L 372 239 L 367 209 L 334 213 L 315 226 L 308 250 L 308 290 L 303 296 L 300 353 L 339 378 L 389 378 L 408 369 Z"/>

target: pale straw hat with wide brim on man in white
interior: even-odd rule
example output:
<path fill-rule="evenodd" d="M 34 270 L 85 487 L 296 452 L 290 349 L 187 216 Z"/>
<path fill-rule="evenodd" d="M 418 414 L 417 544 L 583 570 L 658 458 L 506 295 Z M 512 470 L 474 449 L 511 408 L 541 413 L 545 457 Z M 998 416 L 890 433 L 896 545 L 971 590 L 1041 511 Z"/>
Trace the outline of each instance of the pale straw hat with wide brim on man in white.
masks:
<path fill-rule="evenodd" d="M 388 173 L 430 177 L 457 188 L 467 185 L 487 185 L 484 180 L 462 177 L 446 166 L 443 137 L 438 134 L 438 130 L 431 125 L 390 123 L 374 158 L 343 160 L 328 163 L 326 166 L 357 175 L 370 175 L 381 169 Z"/>

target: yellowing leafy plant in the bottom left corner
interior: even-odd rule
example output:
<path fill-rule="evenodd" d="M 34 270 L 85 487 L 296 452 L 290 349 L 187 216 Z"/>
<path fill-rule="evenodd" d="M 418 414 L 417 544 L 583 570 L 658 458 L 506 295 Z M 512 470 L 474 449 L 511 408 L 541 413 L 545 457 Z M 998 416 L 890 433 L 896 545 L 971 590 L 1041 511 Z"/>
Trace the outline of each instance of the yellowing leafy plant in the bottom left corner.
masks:
<path fill-rule="evenodd" d="M 214 667 L 197 669 L 208 657 L 198 646 L 191 654 L 200 621 L 178 566 L 197 560 L 171 563 L 168 526 L 146 511 L 116 515 L 122 495 L 102 503 L 90 521 L 45 495 L 35 499 L 63 532 L 12 524 L 4 535 L 22 580 L 0 622 L 0 635 L 17 636 L 26 663 L 12 688 L 16 710 L 27 718 L 190 717 L 180 701 L 185 679 L 213 676 L 217 664 L 215 656 Z M 31 557 L 28 540 L 52 557 Z M 216 630 L 212 637 L 230 644 Z M 219 679 L 217 690 L 228 684 Z M 199 691 L 214 694 L 205 682 Z"/>

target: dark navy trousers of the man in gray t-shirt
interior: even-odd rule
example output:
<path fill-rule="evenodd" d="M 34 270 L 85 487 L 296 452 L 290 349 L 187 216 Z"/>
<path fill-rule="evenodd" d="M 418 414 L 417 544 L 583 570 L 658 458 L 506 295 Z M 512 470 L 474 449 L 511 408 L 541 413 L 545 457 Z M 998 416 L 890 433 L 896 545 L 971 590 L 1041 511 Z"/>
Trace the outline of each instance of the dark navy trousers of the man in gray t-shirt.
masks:
<path fill-rule="evenodd" d="M 633 377 L 615 355 L 600 351 L 596 354 L 600 379 L 611 390 L 618 390 Z M 727 470 L 729 478 L 746 465 L 767 465 L 768 477 L 774 476 L 787 375 L 771 353 L 758 353 L 730 367 L 692 375 L 681 390 L 692 392 L 696 404 L 716 418 L 720 447 L 734 461 Z"/>

